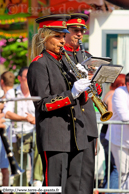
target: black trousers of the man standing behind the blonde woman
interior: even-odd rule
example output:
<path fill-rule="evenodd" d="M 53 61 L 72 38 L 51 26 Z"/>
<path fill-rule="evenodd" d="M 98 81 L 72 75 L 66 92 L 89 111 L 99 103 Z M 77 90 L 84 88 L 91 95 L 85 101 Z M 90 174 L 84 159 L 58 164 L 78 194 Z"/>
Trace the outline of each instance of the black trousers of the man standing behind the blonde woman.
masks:
<path fill-rule="evenodd" d="M 78 194 L 93 194 L 95 170 L 95 144 L 96 139 L 88 137 L 88 149 L 84 150 L 80 191 Z"/>

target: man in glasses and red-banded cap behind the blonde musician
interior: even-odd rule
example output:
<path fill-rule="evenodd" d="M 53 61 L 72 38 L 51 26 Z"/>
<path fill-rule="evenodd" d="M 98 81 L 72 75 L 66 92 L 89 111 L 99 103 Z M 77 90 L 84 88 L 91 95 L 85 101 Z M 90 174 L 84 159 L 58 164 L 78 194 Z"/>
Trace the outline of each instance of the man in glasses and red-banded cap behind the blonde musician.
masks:
<path fill-rule="evenodd" d="M 86 21 L 88 16 L 83 13 L 71 14 L 70 20 L 67 22 L 67 29 L 70 34 L 66 35 L 65 38 L 65 50 L 71 57 L 71 59 L 76 63 L 83 62 L 86 58 L 90 57 L 91 54 L 85 51 L 85 55 L 80 49 L 79 41 L 82 40 L 83 34 L 86 31 Z M 85 56 L 85 57 L 83 57 Z M 89 75 L 91 77 L 91 75 Z M 96 89 L 100 95 L 102 90 L 98 84 L 96 84 Z M 88 99 L 88 93 L 87 93 Z M 88 99 L 87 103 L 82 106 L 82 113 L 84 117 L 84 122 L 86 126 L 86 133 L 88 137 L 88 149 L 84 151 L 83 157 L 83 168 L 80 183 L 80 192 L 93 194 L 94 185 L 94 166 L 95 166 L 95 142 L 98 137 L 96 114 L 93 107 L 93 102 Z"/>

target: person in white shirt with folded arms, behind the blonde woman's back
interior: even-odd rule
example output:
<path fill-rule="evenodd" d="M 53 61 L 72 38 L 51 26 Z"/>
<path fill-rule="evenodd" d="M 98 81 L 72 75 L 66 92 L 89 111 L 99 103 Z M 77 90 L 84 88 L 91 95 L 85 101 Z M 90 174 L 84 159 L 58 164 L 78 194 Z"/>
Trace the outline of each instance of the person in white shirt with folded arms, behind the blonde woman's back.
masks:
<path fill-rule="evenodd" d="M 15 90 L 12 88 L 7 91 L 6 98 L 14 98 L 14 97 L 30 97 L 30 92 L 27 84 L 27 72 L 28 67 L 23 67 L 20 69 L 18 74 L 18 80 L 20 82 L 20 85 Z M 17 108 L 15 102 L 7 102 L 4 107 L 4 114 L 5 118 L 15 120 L 15 121 L 21 121 L 21 122 L 14 122 L 16 124 L 16 127 L 12 128 L 12 143 L 13 143 L 13 152 L 14 157 L 16 158 L 18 164 L 20 164 L 20 154 L 17 150 L 17 134 L 27 134 L 30 132 L 33 132 L 35 128 L 35 108 L 33 101 L 17 101 Z M 16 110 L 15 110 L 16 109 Z M 22 122 L 24 121 L 24 122 Z M 27 153 L 23 153 L 23 169 L 26 170 L 27 168 Z M 32 160 L 32 153 L 30 154 L 31 160 Z M 42 172 L 41 172 L 42 173 Z M 41 178 L 42 179 L 42 178 Z M 42 181 L 42 180 L 41 180 Z M 16 176 L 14 178 L 13 182 L 14 186 L 20 185 L 20 176 Z M 28 186 L 27 182 L 27 175 L 26 172 L 22 175 L 22 185 Z M 42 182 L 41 182 L 42 185 Z M 40 185 L 40 186 L 41 186 Z"/>

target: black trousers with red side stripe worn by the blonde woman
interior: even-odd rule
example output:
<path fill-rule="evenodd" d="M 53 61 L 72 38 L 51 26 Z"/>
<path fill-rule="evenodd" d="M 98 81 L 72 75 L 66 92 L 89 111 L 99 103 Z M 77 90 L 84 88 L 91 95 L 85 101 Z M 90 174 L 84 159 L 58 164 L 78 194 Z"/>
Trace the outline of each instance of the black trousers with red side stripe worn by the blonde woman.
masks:
<path fill-rule="evenodd" d="M 43 186 L 62 186 L 62 194 L 79 194 L 84 151 L 42 152 Z"/>

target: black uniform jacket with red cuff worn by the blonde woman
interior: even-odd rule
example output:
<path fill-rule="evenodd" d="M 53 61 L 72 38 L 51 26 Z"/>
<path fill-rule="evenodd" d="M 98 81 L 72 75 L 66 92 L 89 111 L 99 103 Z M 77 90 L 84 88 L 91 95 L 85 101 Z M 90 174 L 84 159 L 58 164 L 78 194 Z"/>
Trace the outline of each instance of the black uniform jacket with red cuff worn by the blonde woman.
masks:
<path fill-rule="evenodd" d="M 42 98 L 34 103 L 38 150 L 83 150 L 88 142 L 81 109 L 86 103 L 85 95 L 81 95 L 81 100 L 73 99 L 63 72 L 63 68 L 67 71 L 67 64 L 62 66 L 53 56 L 43 51 L 32 61 L 27 74 L 31 96 Z"/>

